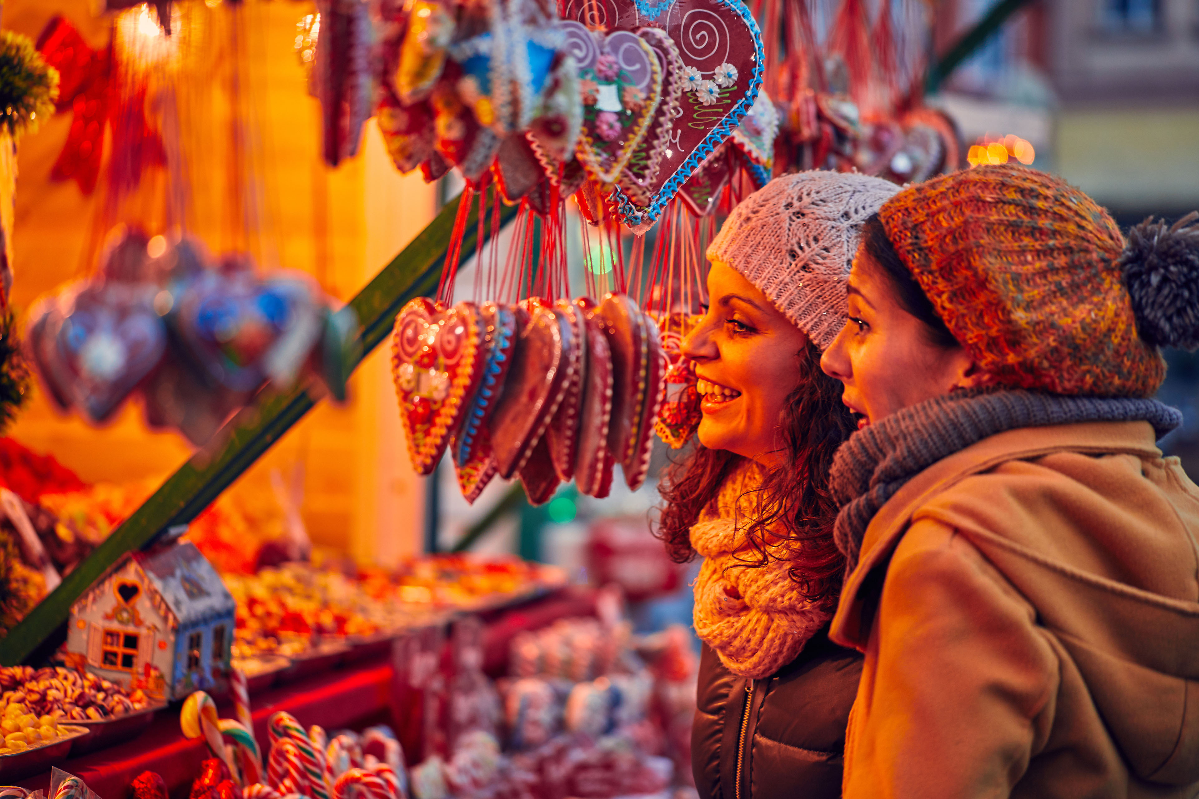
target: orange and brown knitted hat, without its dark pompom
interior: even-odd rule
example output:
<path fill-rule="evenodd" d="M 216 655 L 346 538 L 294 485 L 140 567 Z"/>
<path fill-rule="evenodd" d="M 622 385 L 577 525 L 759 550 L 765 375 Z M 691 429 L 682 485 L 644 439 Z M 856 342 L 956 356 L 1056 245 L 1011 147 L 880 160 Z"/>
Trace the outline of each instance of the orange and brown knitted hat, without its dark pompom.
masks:
<path fill-rule="evenodd" d="M 1115 220 L 1053 175 L 976 167 L 879 211 L 899 258 L 981 369 L 1008 388 L 1150 397 L 1165 376 L 1138 334 Z"/>

